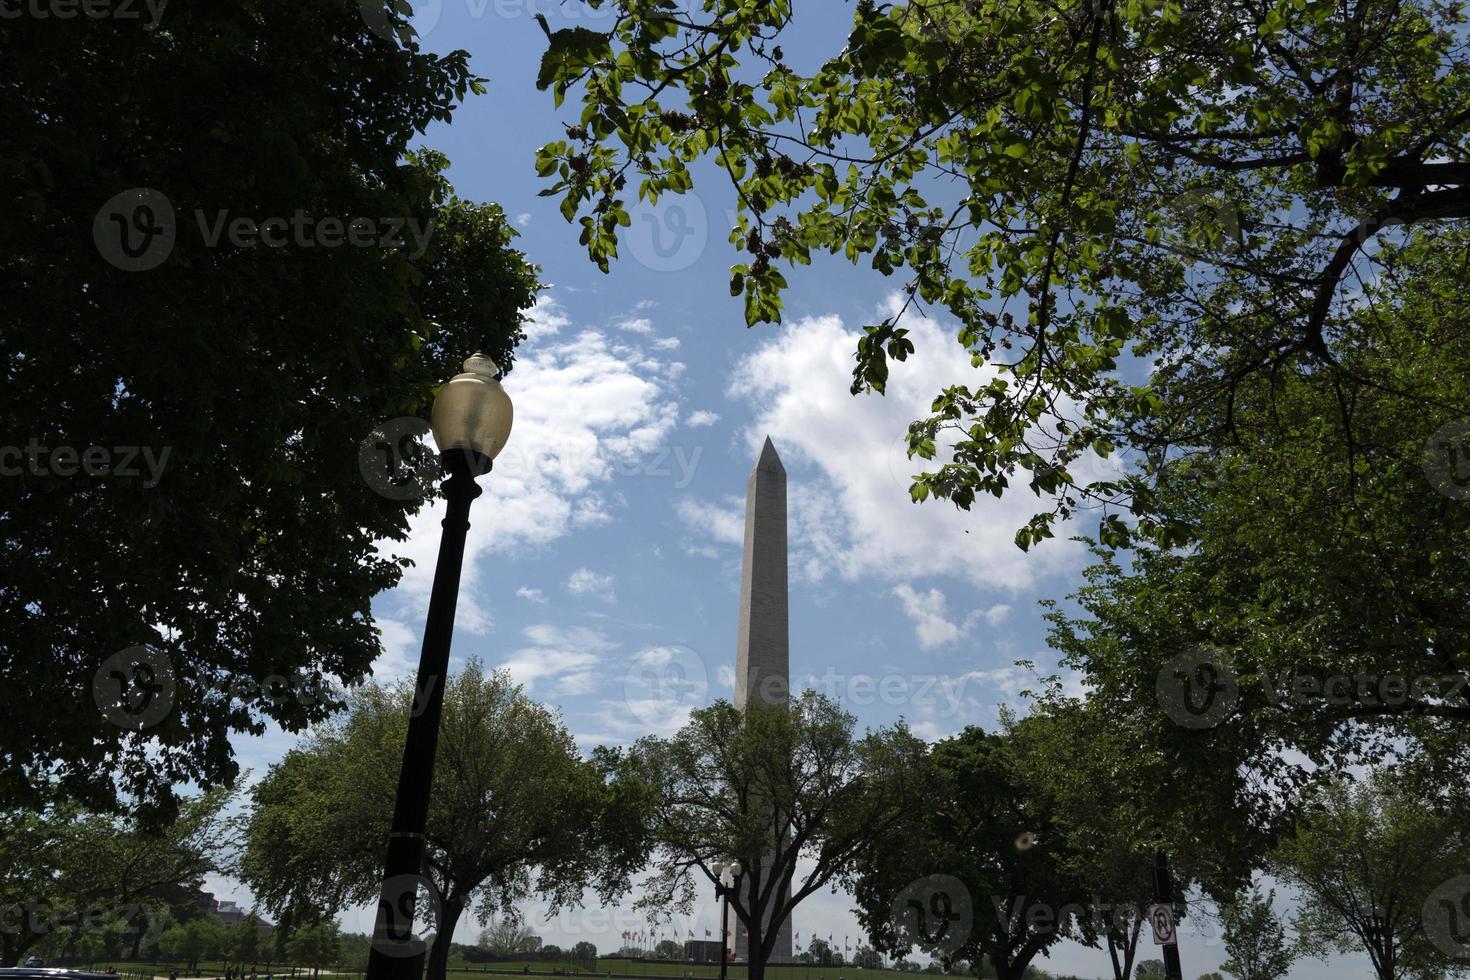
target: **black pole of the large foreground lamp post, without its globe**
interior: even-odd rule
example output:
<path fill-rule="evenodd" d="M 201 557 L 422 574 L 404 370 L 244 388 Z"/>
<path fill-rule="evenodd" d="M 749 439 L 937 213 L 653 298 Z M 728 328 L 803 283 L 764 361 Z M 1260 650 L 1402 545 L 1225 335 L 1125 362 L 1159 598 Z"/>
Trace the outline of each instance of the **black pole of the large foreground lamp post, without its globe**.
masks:
<path fill-rule="evenodd" d="M 388 860 L 378 896 L 372 949 L 368 954 L 368 980 L 419 980 L 423 974 L 423 942 L 413 937 L 415 895 L 420 883 L 428 884 L 422 877 L 423 826 L 429 815 L 429 790 L 434 788 L 434 757 L 440 743 L 440 716 L 444 713 L 444 682 L 450 669 L 450 641 L 454 636 L 454 607 L 465 561 L 465 535 L 469 532 L 469 505 L 481 495 L 475 478 L 490 472 L 490 460 L 463 450 L 451 450 L 441 458 L 450 475 L 444 483 L 448 513 L 444 516 L 440 558 L 434 567 L 429 614 L 423 623 L 413 713 L 403 742 L 398 796 L 388 832 Z"/>

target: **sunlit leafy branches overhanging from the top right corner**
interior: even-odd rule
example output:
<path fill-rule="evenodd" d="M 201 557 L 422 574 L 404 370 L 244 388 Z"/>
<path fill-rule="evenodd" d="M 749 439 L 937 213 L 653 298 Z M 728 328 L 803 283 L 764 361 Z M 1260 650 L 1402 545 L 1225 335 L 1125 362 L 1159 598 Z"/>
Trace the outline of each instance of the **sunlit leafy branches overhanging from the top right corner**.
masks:
<path fill-rule="evenodd" d="M 860 0 L 803 72 L 794 0 L 587 1 L 616 19 L 551 35 L 539 84 L 582 110 L 537 166 L 591 259 L 709 157 L 750 323 L 813 254 L 901 276 L 978 367 L 910 428 L 913 498 L 1020 482 L 1050 501 L 1022 547 L 1085 505 L 1105 544 L 1186 538 L 1155 467 L 1229 442 L 1245 385 L 1361 381 L 1379 244 L 1470 216 L 1457 3 Z M 867 326 L 853 391 L 911 350 Z"/>

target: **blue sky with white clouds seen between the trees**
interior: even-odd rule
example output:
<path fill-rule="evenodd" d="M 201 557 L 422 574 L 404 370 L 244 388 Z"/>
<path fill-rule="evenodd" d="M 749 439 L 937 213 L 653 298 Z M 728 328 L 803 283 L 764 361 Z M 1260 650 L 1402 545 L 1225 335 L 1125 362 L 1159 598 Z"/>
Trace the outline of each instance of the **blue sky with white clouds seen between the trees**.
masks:
<path fill-rule="evenodd" d="M 532 15 L 597 26 L 607 13 L 556 0 L 416 9 L 428 48 L 463 47 L 490 79 L 488 96 L 423 143 L 448 154 L 462 197 L 506 209 L 551 284 L 504 382 L 516 428 L 472 514 L 456 663 L 475 655 L 507 667 L 560 707 L 584 746 L 672 732 L 688 707 L 729 696 L 745 479 L 769 435 L 789 479 L 794 680 L 839 698 L 864 726 L 903 717 L 931 739 L 992 727 L 1032 677 L 1014 661 L 1054 666 L 1038 601 L 1079 583 L 1085 552 L 1067 541 L 1030 554 L 1011 544 L 1032 511 L 1029 494 L 982 500 L 970 513 L 908 501 L 906 425 L 942 385 L 975 382 L 948 325 L 911 317 L 919 353 L 894 366 L 883 398 L 854 398 L 847 386 L 856 334 L 892 309 L 898 281 L 819 259 L 791 276 L 784 325 L 747 329 L 728 289 L 734 201 L 709 169 L 695 172 L 695 194 L 635 212 L 623 257 L 600 273 L 556 200 L 537 197 L 535 148 L 562 138 L 576 109 L 553 110 L 535 91 L 545 38 Z M 848 3 L 811 4 L 784 43 L 788 60 L 801 68 L 839 48 L 850 18 Z M 425 508 L 394 548 L 419 567 L 375 604 L 382 676 L 416 663 L 440 517 Z M 650 689 L 650 671 L 688 683 Z M 237 749 L 259 774 L 291 743 L 275 732 Z M 237 883 L 212 884 L 250 901 Z M 803 940 L 856 945 L 850 908 L 845 895 L 813 896 L 795 929 Z M 368 909 L 343 921 L 370 929 Z M 587 937 L 609 951 L 641 921 L 592 908 L 532 924 L 548 942 Z M 679 933 L 716 927 L 707 902 Z M 462 923 L 459 939 L 476 932 Z M 1186 929 L 1183 942 L 1186 976 L 1217 968 L 1217 939 Z M 1039 965 L 1108 974 L 1105 952 L 1073 945 Z M 1302 964 L 1294 976 L 1327 968 Z"/>

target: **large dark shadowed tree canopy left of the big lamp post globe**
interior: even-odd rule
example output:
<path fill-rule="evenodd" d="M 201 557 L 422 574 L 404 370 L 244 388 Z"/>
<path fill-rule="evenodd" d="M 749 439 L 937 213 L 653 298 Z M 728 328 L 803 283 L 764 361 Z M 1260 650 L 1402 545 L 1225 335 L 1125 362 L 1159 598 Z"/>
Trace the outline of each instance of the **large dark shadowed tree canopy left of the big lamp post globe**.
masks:
<path fill-rule="evenodd" d="M 121 783 L 166 811 L 171 786 L 235 774 L 232 732 L 329 710 L 268 679 L 318 689 L 381 651 L 369 601 L 401 567 L 373 545 L 419 501 L 375 492 L 360 442 L 426 417 L 475 350 L 509 369 L 537 279 L 498 207 L 409 153 L 484 90 L 467 54 L 395 37 L 404 4 L 375 31 L 372 7 L 6 18 L 0 428 L 22 457 L 0 461 L 3 805 L 106 807 Z M 144 191 L 146 210 L 107 210 Z M 215 235 L 241 219 L 287 241 Z M 344 232 L 359 219 L 366 244 Z M 156 267 L 122 262 L 116 222 L 160 244 Z M 143 730 L 94 702 L 140 644 L 171 698 Z"/>

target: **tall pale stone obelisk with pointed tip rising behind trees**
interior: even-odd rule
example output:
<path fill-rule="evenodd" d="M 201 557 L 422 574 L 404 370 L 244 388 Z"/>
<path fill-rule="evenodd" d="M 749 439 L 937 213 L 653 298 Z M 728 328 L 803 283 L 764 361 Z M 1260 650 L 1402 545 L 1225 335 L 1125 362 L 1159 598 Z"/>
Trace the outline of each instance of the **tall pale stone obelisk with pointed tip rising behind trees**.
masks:
<path fill-rule="evenodd" d="M 745 483 L 745 558 L 739 583 L 735 707 L 751 699 L 785 702 L 791 692 L 786 620 L 786 467 L 766 438 Z M 735 918 L 731 912 L 731 918 Z M 735 958 L 750 959 L 750 937 L 731 923 Z M 767 962 L 791 962 L 791 918 L 781 924 Z"/>

